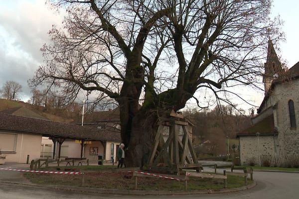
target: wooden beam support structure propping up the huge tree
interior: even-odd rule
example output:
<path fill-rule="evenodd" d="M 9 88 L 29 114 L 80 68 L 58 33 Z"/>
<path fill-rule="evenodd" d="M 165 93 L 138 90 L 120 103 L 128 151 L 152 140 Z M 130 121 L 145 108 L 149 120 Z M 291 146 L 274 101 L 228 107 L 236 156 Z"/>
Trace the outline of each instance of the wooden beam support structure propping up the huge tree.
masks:
<path fill-rule="evenodd" d="M 166 141 L 163 138 L 164 126 L 169 128 Z M 198 163 L 187 126 L 188 122 L 183 115 L 174 111 L 171 111 L 170 117 L 160 119 L 148 159 L 149 168 L 164 163 L 177 175 L 182 169 L 195 169 L 201 172 L 202 166 Z"/>

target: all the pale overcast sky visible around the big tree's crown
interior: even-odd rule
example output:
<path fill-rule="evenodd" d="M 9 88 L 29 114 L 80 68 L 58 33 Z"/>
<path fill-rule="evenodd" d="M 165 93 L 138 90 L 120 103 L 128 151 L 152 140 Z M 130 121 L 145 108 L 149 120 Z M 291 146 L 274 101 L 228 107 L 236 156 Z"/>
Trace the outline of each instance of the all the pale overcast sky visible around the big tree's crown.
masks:
<path fill-rule="evenodd" d="M 283 30 L 287 41 L 280 44 L 279 53 L 289 68 L 299 61 L 299 1 L 274 0 L 272 15 L 280 14 L 285 21 Z M 23 86 L 22 100 L 30 98 L 27 80 L 42 63 L 39 49 L 47 42 L 47 32 L 59 25 L 62 16 L 48 8 L 44 0 L 0 0 L 0 87 L 12 80 Z M 263 93 L 248 97 L 256 105 Z"/>

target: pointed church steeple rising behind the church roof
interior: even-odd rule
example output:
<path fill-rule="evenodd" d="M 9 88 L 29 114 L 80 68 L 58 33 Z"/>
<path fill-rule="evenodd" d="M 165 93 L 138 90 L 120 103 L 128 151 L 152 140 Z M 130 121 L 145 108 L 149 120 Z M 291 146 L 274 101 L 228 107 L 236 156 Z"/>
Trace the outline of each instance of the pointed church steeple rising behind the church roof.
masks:
<path fill-rule="evenodd" d="M 283 72 L 282 64 L 279 61 L 273 43 L 271 39 L 268 41 L 268 54 L 267 61 L 265 63 L 265 74 L 263 77 L 263 83 L 265 86 L 265 95 L 268 93 L 273 80 L 277 79 Z"/>

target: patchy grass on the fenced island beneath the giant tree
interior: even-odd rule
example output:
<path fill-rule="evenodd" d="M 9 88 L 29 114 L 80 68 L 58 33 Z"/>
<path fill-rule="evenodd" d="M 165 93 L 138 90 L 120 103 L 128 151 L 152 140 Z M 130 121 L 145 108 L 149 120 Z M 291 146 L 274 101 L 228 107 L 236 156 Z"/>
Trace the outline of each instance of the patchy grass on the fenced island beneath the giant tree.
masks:
<path fill-rule="evenodd" d="M 71 167 L 67 167 L 70 169 Z M 111 171 L 115 166 L 83 166 L 74 167 L 84 171 L 84 187 L 134 190 L 134 178 L 132 173 Z M 43 169 L 47 171 L 56 170 L 56 168 Z M 63 170 L 63 168 L 60 168 Z M 63 174 L 40 174 L 24 173 L 24 177 L 34 184 L 47 185 L 66 185 L 82 187 L 82 175 L 63 175 Z M 252 181 L 248 180 L 248 184 Z M 227 188 L 236 188 L 244 186 L 244 178 L 238 176 L 229 176 Z M 221 179 L 201 179 L 190 177 L 188 181 L 188 190 L 220 190 L 223 189 L 223 180 Z M 161 178 L 138 178 L 138 190 L 184 190 L 184 182 L 161 179 Z"/>

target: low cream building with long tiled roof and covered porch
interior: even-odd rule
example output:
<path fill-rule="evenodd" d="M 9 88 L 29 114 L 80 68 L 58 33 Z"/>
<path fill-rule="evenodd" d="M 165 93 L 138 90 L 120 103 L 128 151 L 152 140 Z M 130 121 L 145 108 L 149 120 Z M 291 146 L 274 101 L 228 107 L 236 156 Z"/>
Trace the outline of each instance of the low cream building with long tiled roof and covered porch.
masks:
<path fill-rule="evenodd" d="M 82 155 L 97 159 L 99 154 L 110 159 L 120 141 L 118 132 L 0 113 L 0 151 L 6 162 L 26 163 L 28 156 L 29 162 Z"/>

